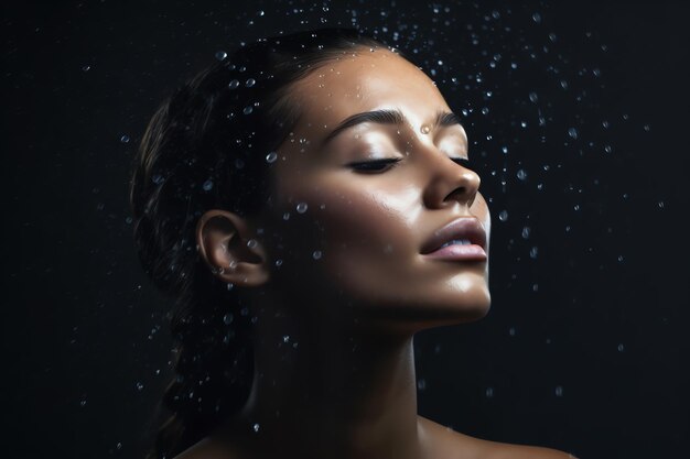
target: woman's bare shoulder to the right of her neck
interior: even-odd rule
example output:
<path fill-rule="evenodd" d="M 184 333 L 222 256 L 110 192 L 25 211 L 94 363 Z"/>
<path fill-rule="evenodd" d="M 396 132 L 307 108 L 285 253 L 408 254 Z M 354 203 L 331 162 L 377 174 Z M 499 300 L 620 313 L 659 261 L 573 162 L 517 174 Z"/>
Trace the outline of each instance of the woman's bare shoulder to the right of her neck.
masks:
<path fill-rule="evenodd" d="M 576 459 L 568 452 L 536 446 L 488 441 L 454 431 L 419 417 L 420 427 L 433 444 L 433 456 L 453 459 Z"/>

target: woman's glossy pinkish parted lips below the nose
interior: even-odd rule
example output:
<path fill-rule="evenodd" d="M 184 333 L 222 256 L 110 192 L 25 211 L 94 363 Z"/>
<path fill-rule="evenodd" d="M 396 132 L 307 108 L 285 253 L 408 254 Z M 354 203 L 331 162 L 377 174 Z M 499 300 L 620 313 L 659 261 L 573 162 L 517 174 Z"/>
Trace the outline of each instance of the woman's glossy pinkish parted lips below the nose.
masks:
<path fill-rule="evenodd" d="M 451 244 L 443 247 L 452 240 L 465 239 L 470 244 Z M 422 247 L 421 254 L 444 260 L 485 261 L 486 231 L 474 217 L 457 218 L 439 228 Z"/>

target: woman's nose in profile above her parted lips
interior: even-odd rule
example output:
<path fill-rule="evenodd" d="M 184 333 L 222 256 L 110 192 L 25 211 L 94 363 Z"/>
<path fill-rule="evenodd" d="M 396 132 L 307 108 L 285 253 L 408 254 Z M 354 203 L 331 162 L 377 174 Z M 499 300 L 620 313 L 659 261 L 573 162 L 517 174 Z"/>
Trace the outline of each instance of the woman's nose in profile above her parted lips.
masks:
<path fill-rule="evenodd" d="M 431 174 L 424 190 L 424 205 L 430 209 L 452 207 L 461 204 L 470 208 L 474 203 L 479 183 L 479 176 L 450 157 L 438 154 L 430 160 Z"/>

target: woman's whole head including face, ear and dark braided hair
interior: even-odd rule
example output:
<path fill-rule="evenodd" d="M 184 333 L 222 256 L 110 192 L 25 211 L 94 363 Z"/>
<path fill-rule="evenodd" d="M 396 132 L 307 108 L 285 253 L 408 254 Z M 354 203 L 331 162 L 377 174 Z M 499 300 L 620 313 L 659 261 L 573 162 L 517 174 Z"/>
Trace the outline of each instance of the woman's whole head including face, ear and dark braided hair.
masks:
<path fill-rule="evenodd" d="M 159 109 L 131 186 L 142 264 L 176 299 L 159 453 L 244 402 L 255 295 L 391 329 L 486 313 L 485 260 L 428 254 L 489 226 L 451 113 L 421 70 L 347 30 L 240 47 Z"/>

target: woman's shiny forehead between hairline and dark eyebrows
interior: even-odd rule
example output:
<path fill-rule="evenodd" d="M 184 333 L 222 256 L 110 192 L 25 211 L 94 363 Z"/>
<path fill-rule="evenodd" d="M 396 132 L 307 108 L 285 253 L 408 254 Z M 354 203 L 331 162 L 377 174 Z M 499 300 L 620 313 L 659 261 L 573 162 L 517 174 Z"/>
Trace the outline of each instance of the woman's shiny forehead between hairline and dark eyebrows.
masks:
<path fill-rule="evenodd" d="M 450 111 L 433 81 L 419 68 L 385 48 L 362 48 L 331 59 L 292 91 L 301 112 L 295 130 L 325 136 L 347 117 L 376 109 L 398 109 L 419 128 L 439 110 Z"/>

